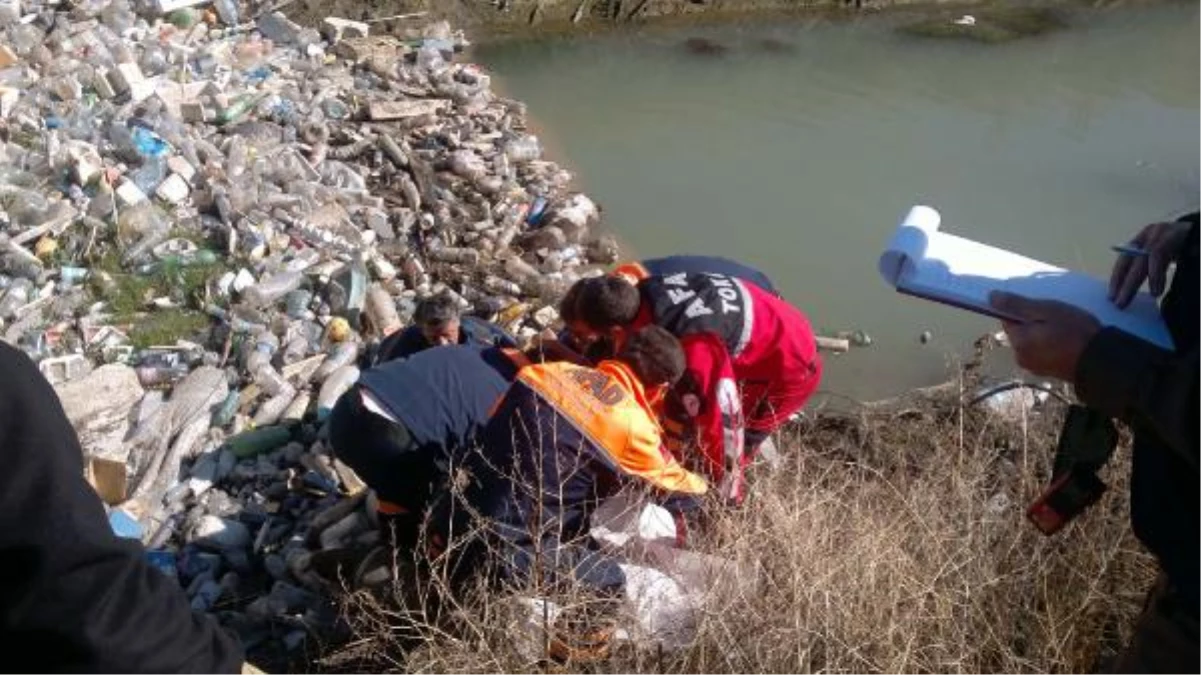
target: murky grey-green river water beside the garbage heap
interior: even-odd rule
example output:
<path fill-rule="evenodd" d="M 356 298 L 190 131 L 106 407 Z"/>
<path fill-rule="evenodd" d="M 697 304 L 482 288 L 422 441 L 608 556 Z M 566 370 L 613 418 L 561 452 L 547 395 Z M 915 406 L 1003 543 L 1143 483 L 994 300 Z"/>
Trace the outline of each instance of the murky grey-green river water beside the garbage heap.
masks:
<path fill-rule="evenodd" d="M 819 331 L 870 334 L 827 357 L 823 389 L 872 399 L 944 381 L 997 328 L 883 282 L 912 204 L 1104 275 L 1110 244 L 1201 203 L 1201 8 L 1081 12 L 1003 46 L 906 37 L 904 18 L 633 29 L 477 59 L 629 250 L 739 258 Z M 689 54 L 693 36 L 729 50 Z"/>

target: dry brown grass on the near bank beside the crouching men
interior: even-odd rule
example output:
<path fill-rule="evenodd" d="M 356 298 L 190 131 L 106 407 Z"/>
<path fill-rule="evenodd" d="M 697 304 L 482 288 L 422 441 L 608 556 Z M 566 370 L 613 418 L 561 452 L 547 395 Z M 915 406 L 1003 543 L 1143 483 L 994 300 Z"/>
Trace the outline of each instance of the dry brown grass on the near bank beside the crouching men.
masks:
<path fill-rule="evenodd" d="M 625 647 L 598 673 L 1089 673 L 1124 641 L 1153 575 L 1128 525 L 1123 449 L 1101 503 L 1053 538 L 1024 516 L 1063 406 L 1022 422 L 958 398 L 824 414 L 777 442 L 784 466 L 717 516 L 699 548 L 758 563 L 759 591 L 722 598 L 681 652 Z M 516 649 L 504 598 L 438 625 L 348 599 L 357 641 L 327 671 L 550 670 Z M 411 617 L 410 617 L 411 619 Z M 405 633 L 396 626 L 406 623 Z"/>

